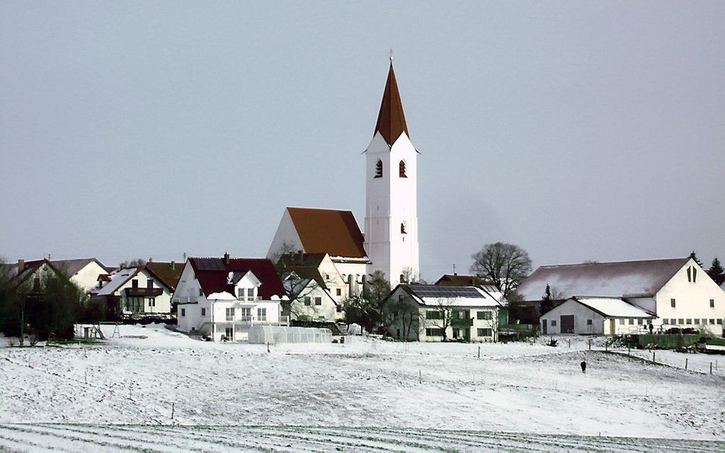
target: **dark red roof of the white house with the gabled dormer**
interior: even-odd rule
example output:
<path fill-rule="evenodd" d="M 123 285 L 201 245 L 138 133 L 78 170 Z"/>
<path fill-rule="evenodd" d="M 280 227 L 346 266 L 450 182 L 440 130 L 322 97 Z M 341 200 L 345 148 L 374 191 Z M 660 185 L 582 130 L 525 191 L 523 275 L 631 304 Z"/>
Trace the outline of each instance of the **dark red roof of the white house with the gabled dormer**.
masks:
<path fill-rule="evenodd" d="M 285 296 L 282 281 L 269 259 L 265 258 L 189 258 L 188 262 L 194 269 L 196 279 L 202 286 L 204 294 L 228 291 L 229 273 L 247 273 L 250 270 L 262 282 L 259 295 L 262 299 L 272 296 Z"/>

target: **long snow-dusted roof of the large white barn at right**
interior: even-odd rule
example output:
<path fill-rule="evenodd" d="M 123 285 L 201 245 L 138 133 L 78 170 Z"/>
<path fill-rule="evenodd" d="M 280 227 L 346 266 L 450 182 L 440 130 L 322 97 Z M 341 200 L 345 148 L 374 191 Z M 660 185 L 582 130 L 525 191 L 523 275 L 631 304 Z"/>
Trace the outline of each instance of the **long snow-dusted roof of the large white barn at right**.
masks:
<path fill-rule="evenodd" d="M 561 299 L 571 296 L 648 297 L 657 294 L 689 258 L 597 262 L 542 266 L 516 293 L 524 301 L 541 300 L 549 285 Z"/>

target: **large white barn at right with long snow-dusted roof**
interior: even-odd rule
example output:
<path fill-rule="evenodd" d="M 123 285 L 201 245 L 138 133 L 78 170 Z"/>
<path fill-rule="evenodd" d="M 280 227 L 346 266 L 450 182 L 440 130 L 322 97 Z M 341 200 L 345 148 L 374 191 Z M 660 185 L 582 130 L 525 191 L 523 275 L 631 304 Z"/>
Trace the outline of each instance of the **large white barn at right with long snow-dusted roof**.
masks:
<path fill-rule="evenodd" d="M 587 297 L 621 299 L 652 315 L 656 329 L 724 333 L 725 291 L 689 257 L 542 266 L 519 286 L 517 294 L 525 301 L 540 303 L 547 285 L 559 300 L 573 296 L 580 302 Z M 639 317 L 618 318 L 616 323 L 616 331 L 620 331 L 639 323 Z M 547 330 L 550 328 L 548 325 Z"/>

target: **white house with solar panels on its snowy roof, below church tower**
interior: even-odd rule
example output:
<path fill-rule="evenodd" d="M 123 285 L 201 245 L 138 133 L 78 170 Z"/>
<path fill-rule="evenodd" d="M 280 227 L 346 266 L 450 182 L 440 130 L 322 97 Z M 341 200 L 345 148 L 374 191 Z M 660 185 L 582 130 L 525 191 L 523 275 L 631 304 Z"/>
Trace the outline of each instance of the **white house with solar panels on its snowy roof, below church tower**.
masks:
<path fill-rule="evenodd" d="M 395 338 L 413 341 L 496 341 L 506 306 L 476 286 L 398 285 L 384 302 L 384 323 Z"/>

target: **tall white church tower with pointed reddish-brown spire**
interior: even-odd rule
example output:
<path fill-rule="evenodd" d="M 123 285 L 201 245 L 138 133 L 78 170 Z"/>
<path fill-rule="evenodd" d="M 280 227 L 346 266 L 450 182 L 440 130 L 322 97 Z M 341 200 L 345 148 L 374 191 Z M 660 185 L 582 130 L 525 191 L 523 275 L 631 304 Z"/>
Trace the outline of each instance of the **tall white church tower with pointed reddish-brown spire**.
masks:
<path fill-rule="evenodd" d="M 383 271 L 392 286 L 417 281 L 420 273 L 417 154 L 391 57 L 373 141 L 365 150 L 365 252 L 372 262 L 368 273 Z"/>

